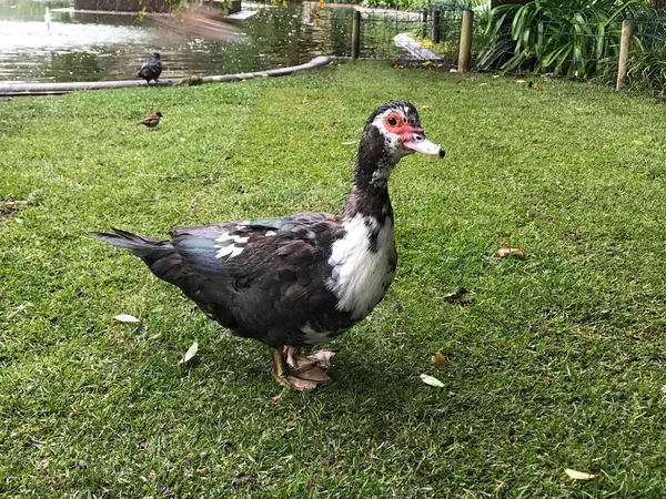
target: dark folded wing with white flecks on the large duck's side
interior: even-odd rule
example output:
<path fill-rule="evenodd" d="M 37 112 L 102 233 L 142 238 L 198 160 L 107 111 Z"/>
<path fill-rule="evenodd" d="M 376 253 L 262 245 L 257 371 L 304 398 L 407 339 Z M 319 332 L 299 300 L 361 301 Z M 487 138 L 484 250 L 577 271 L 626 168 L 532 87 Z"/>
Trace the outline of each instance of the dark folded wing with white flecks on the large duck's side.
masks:
<path fill-rule="evenodd" d="M 285 335 L 304 329 L 349 327 L 325 317 L 309 324 L 309 317 L 327 317 L 329 309 L 335 315 L 329 257 L 343 234 L 333 215 L 306 213 L 181 227 L 171 233 L 171 244 L 202 278 L 195 299 L 202 308 L 243 336 L 281 345 L 297 343 Z"/>

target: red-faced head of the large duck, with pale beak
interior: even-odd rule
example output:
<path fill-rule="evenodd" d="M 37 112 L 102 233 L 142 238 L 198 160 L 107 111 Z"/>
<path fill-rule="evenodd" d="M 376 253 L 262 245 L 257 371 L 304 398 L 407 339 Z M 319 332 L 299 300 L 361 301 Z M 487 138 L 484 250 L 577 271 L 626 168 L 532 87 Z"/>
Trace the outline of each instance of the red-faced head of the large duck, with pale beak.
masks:
<path fill-rule="evenodd" d="M 367 119 L 364 139 L 382 142 L 384 155 L 397 163 L 401 157 L 420 152 L 444 157 L 441 145 L 425 138 L 418 112 L 407 101 L 391 101 Z"/>

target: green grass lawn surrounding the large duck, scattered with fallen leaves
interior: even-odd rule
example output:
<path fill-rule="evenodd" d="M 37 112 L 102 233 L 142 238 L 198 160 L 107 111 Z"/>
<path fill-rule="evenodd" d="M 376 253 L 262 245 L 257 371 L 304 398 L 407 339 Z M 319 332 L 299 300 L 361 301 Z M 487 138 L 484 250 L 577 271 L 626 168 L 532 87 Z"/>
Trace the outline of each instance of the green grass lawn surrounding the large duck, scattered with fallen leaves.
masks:
<path fill-rule="evenodd" d="M 390 99 L 447 156 L 393 173 L 396 281 L 315 393 L 87 235 L 335 212 Z M 0 102 L 0 497 L 663 498 L 665 113 L 382 64 Z"/>

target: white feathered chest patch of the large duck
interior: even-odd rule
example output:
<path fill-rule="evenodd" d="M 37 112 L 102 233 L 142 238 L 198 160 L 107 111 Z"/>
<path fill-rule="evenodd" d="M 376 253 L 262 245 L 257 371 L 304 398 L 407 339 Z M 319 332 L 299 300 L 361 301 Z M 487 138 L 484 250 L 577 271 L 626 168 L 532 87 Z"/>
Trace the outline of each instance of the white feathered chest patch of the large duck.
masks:
<path fill-rule="evenodd" d="M 329 288 L 337 297 L 336 308 L 360 320 L 382 301 L 395 276 L 393 221 L 380 225 L 373 217 L 356 215 L 344 228 L 329 258 L 333 267 Z"/>

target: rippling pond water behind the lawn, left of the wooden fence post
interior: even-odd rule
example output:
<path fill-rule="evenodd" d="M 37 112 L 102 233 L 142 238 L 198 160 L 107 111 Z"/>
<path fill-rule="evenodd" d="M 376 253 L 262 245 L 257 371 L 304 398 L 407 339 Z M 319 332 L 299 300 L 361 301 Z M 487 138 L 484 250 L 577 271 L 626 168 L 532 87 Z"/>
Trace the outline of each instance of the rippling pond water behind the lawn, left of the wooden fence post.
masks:
<path fill-rule="evenodd" d="M 319 2 L 262 6 L 234 22 L 245 34 L 242 42 L 221 43 L 164 29 L 150 17 L 140 22 L 134 14 L 74 12 L 68 1 L 0 0 L 0 81 L 135 79 L 152 52 L 162 55 L 162 78 L 282 68 L 322 54 L 349 55 L 351 18 L 349 9 L 320 11 Z"/>

